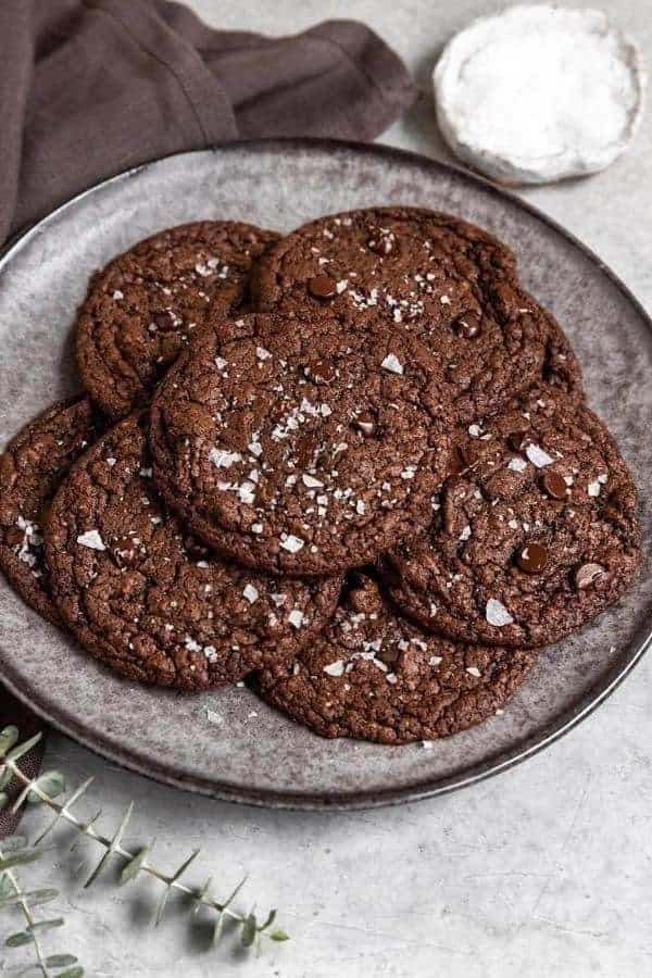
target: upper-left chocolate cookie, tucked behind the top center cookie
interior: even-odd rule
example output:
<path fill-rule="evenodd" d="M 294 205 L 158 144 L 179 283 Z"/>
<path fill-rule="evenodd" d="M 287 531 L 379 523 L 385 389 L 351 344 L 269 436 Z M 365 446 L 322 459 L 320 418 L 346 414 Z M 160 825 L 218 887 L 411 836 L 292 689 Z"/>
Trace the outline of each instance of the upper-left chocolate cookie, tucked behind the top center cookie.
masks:
<path fill-rule="evenodd" d="M 77 363 L 110 417 L 143 403 L 206 311 L 228 313 L 249 294 L 274 231 L 233 221 L 184 224 L 147 238 L 90 281 L 77 318 Z"/>

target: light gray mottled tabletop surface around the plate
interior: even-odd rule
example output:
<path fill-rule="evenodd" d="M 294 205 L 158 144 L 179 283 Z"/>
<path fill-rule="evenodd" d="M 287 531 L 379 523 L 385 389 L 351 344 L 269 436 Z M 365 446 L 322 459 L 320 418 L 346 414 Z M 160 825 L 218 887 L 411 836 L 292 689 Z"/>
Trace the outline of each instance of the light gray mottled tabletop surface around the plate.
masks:
<path fill-rule="evenodd" d="M 405 59 L 425 92 L 383 141 L 447 156 L 437 134 L 429 75 L 450 36 L 498 4 L 457 0 L 191 0 L 216 26 L 291 33 L 354 16 Z M 647 0 L 602 2 L 652 63 Z M 592 247 L 652 311 L 650 116 L 632 151 L 606 173 L 524 196 Z M 93 802 L 110 829 L 129 800 L 134 844 L 156 835 L 172 869 L 201 845 L 201 867 L 228 891 L 250 875 L 244 901 L 277 905 L 292 941 L 240 961 L 227 945 L 212 957 L 190 937 L 173 902 L 158 930 L 156 887 L 79 883 L 92 851 L 66 854 L 65 833 L 28 879 L 62 885 L 67 923 L 51 944 L 78 953 L 93 976 L 212 974 L 281 978 L 421 978 L 652 974 L 652 657 L 611 701 L 543 754 L 492 781 L 432 802 L 371 813 L 309 815 L 237 808 L 115 769 L 52 735 L 47 764 L 71 783 L 96 775 Z M 28 816 L 36 829 L 42 813 Z M 49 862 L 49 861 L 48 861 Z M 205 870 L 205 872 L 204 872 Z M 49 942 L 50 943 L 50 942 Z M 2 964 L 9 955 L 0 951 Z M 12 953 L 11 960 L 15 961 Z"/>

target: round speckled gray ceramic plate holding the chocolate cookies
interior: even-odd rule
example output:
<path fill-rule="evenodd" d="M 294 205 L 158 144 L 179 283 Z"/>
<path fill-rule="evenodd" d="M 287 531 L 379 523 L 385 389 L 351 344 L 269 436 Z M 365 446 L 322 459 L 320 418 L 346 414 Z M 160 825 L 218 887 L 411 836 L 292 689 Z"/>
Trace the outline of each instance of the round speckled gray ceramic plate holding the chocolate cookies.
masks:
<path fill-rule="evenodd" d="M 17 241 L 0 264 L 0 439 L 76 388 L 75 309 L 89 274 L 116 252 L 199 217 L 289 230 L 321 214 L 379 203 L 451 211 L 512 246 L 526 285 L 570 334 L 590 400 L 644 488 L 652 471 L 652 331 L 623 285 L 546 217 L 479 178 L 396 150 L 322 141 L 172 156 L 95 187 Z M 645 493 L 643 507 L 648 543 Z M 167 783 L 279 807 L 365 807 L 472 783 L 570 729 L 641 656 L 651 605 L 648 557 L 617 609 L 542 653 L 503 716 L 430 751 L 322 740 L 247 689 L 181 695 L 124 681 L 40 620 L 4 582 L 0 675 L 55 727 Z"/>

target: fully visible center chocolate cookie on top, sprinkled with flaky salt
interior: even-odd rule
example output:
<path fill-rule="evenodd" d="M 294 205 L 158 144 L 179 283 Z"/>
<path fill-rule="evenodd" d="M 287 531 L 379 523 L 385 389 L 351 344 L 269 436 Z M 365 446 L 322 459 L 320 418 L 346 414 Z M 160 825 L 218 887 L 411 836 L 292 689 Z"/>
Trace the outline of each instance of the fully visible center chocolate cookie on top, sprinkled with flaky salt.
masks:
<path fill-rule="evenodd" d="M 405 333 L 253 314 L 202 330 L 156 391 L 154 478 L 247 566 L 333 574 L 429 519 L 448 464 L 436 358 Z"/>

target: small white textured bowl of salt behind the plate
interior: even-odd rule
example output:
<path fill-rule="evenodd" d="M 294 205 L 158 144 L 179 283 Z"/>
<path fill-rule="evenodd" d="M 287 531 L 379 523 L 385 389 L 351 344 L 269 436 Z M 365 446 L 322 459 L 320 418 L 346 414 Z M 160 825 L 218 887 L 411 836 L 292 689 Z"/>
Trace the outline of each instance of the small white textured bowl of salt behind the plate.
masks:
<path fill-rule="evenodd" d="M 604 170 L 627 149 L 645 73 L 601 11 L 519 5 L 453 37 L 434 85 L 460 160 L 501 183 L 544 184 Z"/>

